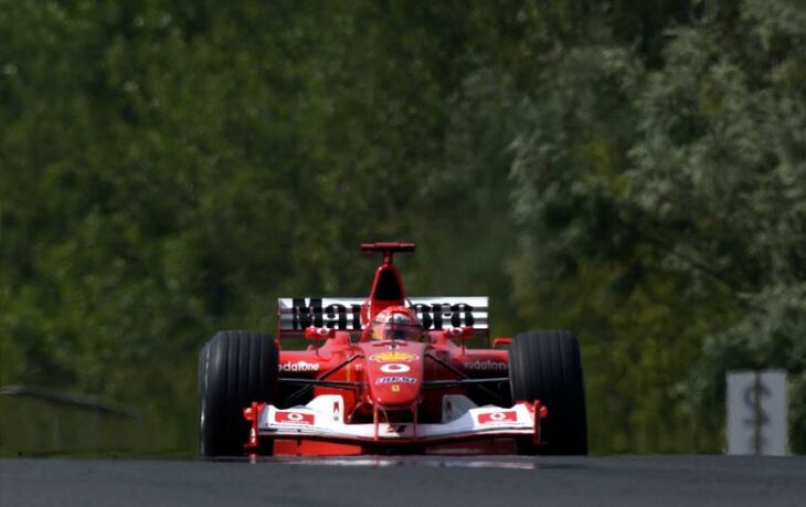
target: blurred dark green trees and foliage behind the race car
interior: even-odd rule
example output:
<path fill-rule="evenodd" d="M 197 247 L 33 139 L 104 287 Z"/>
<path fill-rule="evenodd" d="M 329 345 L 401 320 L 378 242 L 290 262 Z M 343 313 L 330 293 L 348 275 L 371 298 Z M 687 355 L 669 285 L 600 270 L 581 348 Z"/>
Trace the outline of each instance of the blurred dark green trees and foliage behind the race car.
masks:
<path fill-rule="evenodd" d="M 216 329 L 405 240 L 410 294 L 580 335 L 594 452 L 721 452 L 771 367 L 806 452 L 805 43 L 800 0 L 0 0 L 0 384 L 192 452 Z"/>

